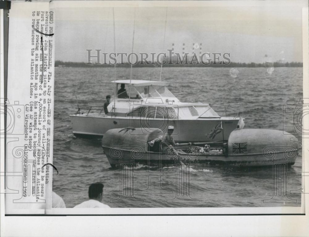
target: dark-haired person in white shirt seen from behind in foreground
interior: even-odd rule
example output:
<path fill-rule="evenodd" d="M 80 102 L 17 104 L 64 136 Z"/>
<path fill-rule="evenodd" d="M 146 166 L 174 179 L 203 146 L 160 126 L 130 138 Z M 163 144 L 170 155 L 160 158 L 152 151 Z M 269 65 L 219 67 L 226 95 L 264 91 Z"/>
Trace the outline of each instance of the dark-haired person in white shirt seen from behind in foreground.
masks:
<path fill-rule="evenodd" d="M 101 183 L 91 184 L 88 190 L 89 200 L 74 206 L 74 208 L 109 208 L 108 205 L 101 202 L 103 197 L 103 188 L 104 185 Z"/>

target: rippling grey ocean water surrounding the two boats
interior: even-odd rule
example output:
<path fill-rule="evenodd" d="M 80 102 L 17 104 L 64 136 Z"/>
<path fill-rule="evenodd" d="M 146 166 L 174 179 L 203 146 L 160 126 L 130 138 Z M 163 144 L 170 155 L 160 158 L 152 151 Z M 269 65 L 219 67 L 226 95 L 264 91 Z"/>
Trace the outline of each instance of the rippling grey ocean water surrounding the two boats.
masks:
<path fill-rule="evenodd" d="M 291 132 L 293 121 L 283 113 L 287 100 L 302 98 L 302 68 L 163 68 L 162 80 L 171 82 L 169 89 L 183 102 L 203 102 L 210 105 L 245 103 L 245 128 L 285 129 Z M 160 68 L 133 68 L 133 79 L 158 80 Z M 53 190 L 66 207 L 88 199 L 91 183 L 104 183 L 103 202 L 111 207 L 271 207 L 300 206 L 301 177 L 288 176 L 288 197 L 277 203 L 263 200 L 273 196 L 272 167 L 224 167 L 192 164 L 190 166 L 190 197 L 198 202 L 169 202 L 175 197 L 175 177 L 159 179 L 134 177 L 134 196 L 143 202 L 110 203 L 119 197 L 119 170 L 110 165 L 101 148 L 100 139 L 75 138 L 70 114 L 79 106 L 99 106 L 105 96 L 113 94 L 113 68 L 56 68 L 53 164 Z M 130 69 L 116 70 L 117 79 L 129 79 Z M 216 110 L 216 108 L 214 108 Z M 301 150 L 289 172 L 301 171 Z M 175 166 L 165 167 L 171 174 Z M 156 172 L 158 167 L 138 164 L 134 172 Z M 148 189 L 147 189 L 148 188 Z M 125 188 L 127 189 L 127 188 Z M 132 191 L 132 190 L 121 191 Z M 139 191 L 137 190 L 147 190 Z M 158 191 L 159 190 L 159 191 Z M 172 193 L 171 193 L 172 192 Z M 296 200 L 289 203 L 289 200 Z"/>

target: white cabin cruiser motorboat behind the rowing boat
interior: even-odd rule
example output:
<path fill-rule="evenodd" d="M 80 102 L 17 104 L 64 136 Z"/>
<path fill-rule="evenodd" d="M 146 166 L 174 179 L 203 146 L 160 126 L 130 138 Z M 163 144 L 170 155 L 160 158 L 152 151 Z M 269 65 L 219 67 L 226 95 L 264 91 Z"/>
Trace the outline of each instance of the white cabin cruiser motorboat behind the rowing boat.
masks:
<path fill-rule="evenodd" d="M 109 129 L 125 127 L 142 128 L 142 134 L 151 133 L 152 128 L 165 133 L 172 125 L 176 142 L 224 141 L 243 122 L 240 111 L 234 116 L 220 116 L 209 104 L 180 102 L 167 89 L 168 82 L 115 80 L 112 83 L 115 95 L 119 85 L 124 84 L 127 98 L 115 96 L 108 105 L 108 114 L 103 106 L 78 107 L 76 114 L 70 115 L 74 135 L 102 138 Z"/>

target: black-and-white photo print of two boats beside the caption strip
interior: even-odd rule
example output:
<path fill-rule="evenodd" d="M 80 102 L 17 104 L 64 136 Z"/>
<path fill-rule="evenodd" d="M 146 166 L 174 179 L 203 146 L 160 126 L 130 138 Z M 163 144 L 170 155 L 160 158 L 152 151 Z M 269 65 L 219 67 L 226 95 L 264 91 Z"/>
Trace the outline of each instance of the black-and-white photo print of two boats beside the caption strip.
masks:
<path fill-rule="evenodd" d="M 56 8 L 66 207 L 301 206 L 300 8 L 206 5 Z"/>

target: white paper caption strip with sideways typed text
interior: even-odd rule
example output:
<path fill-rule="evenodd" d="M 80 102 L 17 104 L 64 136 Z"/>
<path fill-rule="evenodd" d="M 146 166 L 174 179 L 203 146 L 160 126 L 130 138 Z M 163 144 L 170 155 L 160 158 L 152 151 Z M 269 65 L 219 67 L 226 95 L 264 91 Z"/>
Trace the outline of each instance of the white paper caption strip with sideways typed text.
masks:
<path fill-rule="evenodd" d="M 48 2 L 21 5 L 10 11 L 6 214 L 44 214 L 52 190 L 54 11 Z"/>

